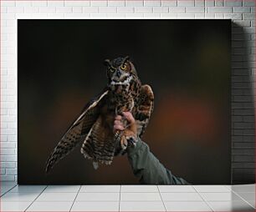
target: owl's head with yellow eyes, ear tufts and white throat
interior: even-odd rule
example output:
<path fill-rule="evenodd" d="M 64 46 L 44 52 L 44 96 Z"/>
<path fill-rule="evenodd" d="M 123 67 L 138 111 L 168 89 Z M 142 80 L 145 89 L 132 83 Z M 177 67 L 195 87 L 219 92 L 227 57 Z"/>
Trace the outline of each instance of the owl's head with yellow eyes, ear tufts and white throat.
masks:
<path fill-rule="evenodd" d="M 136 68 L 129 57 L 105 59 L 106 73 L 111 85 L 129 84 L 132 79 L 137 79 Z"/>

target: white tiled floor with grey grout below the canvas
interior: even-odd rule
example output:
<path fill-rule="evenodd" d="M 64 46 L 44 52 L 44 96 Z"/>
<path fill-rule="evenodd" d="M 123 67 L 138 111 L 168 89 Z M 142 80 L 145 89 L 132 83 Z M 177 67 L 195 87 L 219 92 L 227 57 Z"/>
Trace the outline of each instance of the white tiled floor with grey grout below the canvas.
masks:
<path fill-rule="evenodd" d="M 1 183 L 0 211 L 254 211 L 255 184 L 16 185 Z"/>

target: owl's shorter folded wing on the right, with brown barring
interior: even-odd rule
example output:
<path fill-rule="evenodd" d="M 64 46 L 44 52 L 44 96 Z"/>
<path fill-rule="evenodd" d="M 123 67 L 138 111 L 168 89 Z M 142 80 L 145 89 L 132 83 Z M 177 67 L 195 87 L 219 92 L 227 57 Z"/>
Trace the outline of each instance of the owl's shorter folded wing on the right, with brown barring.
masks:
<path fill-rule="evenodd" d="M 139 95 L 138 107 L 136 109 L 135 119 L 138 129 L 138 135 L 141 137 L 144 134 L 151 113 L 154 109 L 154 93 L 151 87 L 147 84 L 141 86 Z"/>

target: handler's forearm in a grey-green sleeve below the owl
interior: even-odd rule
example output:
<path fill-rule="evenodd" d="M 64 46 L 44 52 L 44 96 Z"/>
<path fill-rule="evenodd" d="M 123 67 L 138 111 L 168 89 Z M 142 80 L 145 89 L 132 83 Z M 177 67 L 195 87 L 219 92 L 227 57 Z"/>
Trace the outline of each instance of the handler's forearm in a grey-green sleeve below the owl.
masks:
<path fill-rule="evenodd" d="M 136 146 L 128 145 L 127 154 L 131 169 L 141 184 L 189 184 L 166 169 L 141 139 Z"/>

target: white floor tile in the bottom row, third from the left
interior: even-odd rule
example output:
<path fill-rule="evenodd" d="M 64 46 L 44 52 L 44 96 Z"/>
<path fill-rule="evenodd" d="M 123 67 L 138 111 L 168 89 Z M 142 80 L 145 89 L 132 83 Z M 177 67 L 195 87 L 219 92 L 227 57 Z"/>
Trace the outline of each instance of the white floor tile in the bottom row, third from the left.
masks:
<path fill-rule="evenodd" d="M 119 202 L 74 202 L 71 211 L 119 211 Z"/>

